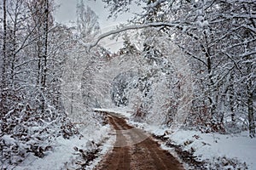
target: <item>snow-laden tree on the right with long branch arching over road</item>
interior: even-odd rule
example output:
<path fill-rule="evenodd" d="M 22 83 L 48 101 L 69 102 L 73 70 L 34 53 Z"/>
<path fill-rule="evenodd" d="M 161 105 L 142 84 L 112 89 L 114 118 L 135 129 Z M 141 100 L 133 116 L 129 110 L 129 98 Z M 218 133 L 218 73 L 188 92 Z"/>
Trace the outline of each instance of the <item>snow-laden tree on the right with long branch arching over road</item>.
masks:
<path fill-rule="evenodd" d="M 104 0 L 103 2 L 110 6 L 110 16 L 125 12 L 129 7 L 125 6 L 124 8 L 123 4 L 144 3 L 146 6 L 143 14 L 139 14 L 132 20 L 133 23 L 143 23 L 143 25 L 127 26 L 118 31 L 109 32 L 109 34 L 158 26 L 159 31 L 166 32 L 167 36 L 172 41 L 174 40 L 184 53 L 188 54 L 191 66 L 196 73 L 195 76 L 199 80 L 201 79 L 201 82 L 198 82 L 198 89 L 201 87 L 201 94 L 198 97 L 201 98 L 201 101 L 198 101 L 199 103 L 195 104 L 195 107 L 204 105 L 200 109 L 207 113 L 205 119 L 201 120 L 203 123 L 209 122 L 212 128 L 219 131 L 219 128 L 223 129 L 221 124 L 224 121 L 224 112 L 231 111 L 232 120 L 234 120 L 236 113 L 240 111 L 239 108 L 244 108 L 246 105 L 248 106 L 247 111 L 250 112 L 248 119 L 252 119 L 252 99 L 249 99 L 251 98 L 249 96 L 253 95 L 252 92 L 255 88 L 250 85 L 252 84 L 250 81 L 247 81 L 247 87 L 239 85 L 237 82 L 241 83 L 245 77 L 253 80 L 249 75 L 252 75 L 253 72 L 251 65 L 254 63 L 252 60 L 255 56 L 255 49 L 252 48 L 255 43 L 254 2 L 236 0 L 228 2 L 121 0 L 118 3 Z M 154 16 L 165 17 L 160 23 L 159 20 L 154 20 Z M 102 37 L 109 34 L 104 34 Z M 245 37 L 245 35 L 248 36 Z M 245 63 L 247 65 L 243 67 L 242 65 Z M 240 73 L 242 76 L 239 75 Z M 234 84 L 234 82 L 236 83 Z M 238 87 L 248 94 L 247 97 L 237 93 Z M 250 87 L 250 93 L 246 90 L 248 87 Z M 225 101 L 227 98 L 232 100 L 229 104 Z M 249 122 L 250 129 L 255 129 L 254 121 Z M 250 133 L 253 132 L 254 130 L 250 130 Z"/>

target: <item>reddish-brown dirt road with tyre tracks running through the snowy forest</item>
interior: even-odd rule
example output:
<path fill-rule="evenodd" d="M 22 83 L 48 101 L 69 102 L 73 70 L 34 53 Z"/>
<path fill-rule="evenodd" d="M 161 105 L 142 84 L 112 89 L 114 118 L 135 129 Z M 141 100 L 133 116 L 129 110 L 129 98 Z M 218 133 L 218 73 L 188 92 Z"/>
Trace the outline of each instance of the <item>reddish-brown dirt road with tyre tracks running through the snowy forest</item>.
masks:
<path fill-rule="evenodd" d="M 108 116 L 116 130 L 116 141 L 111 153 L 96 166 L 96 170 L 176 170 L 183 169 L 168 151 L 161 150 L 152 137 L 127 125 L 123 118 Z"/>

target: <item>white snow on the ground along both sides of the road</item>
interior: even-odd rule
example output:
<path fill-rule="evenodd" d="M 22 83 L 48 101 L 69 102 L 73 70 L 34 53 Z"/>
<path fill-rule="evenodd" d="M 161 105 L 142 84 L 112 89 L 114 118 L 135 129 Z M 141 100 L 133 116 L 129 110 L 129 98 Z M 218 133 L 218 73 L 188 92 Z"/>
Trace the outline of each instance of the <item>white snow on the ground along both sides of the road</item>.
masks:
<path fill-rule="evenodd" d="M 95 111 L 108 111 L 131 118 L 131 110 L 128 108 L 115 108 L 115 109 L 95 109 Z M 256 169 L 256 139 L 248 137 L 247 133 L 241 133 L 236 135 L 224 135 L 218 133 L 201 133 L 198 131 L 189 130 L 176 130 L 167 127 L 159 127 L 157 125 L 148 125 L 146 123 L 129 122 L 136 127 L 140 127 L 148 133 L 154 133 L 155 135 L 165 135 L 170 139 L 173 144 L 182 146 L 183 150 L 193 150 L 194 156 L 198 161 L 207 161 L 214 164 L 219 161 L 218 158 L 226 157 L 230 160 L 237 160 L 241 163 L 246 162 L 248 169 Z M 67 169 L 68 167 L 75 167 L 75 163 L 79 160 L 78 153 L 74 148 L 77 147 L 83 150 L 91 150 L 95 146 L 91 141 L 96 144 L 103 144 L 99 157 L 97 157 L 90 166 L 86 169 L 92 169 L 96 164 L 102 160 L 109 150 L 112 149 L 115 141 L 114 135 L 108 135 L 111 132 L 109 125 L 105 126 L 92 126 L 90 128 L 84 128 L 84 131 L 80 133 L 83 135 L 79 139 L 79 136 L 72 137 L 71 139 L 63 139 L 59 137 L 55 139 L 55 144 L 52 144 L 54 150 L 49 151 L 44 158 L 38 158 L 30 155 L 26 158 L 26 161 L 22 162 L 19 167 L 15 167 L 16 170 L 46 170 L 46 169 Z M 106 137 L 109 137 L 106 138 Z M 162 144 L 164 149 L 168 149 L 166 145 Z M 222 168 L 222 167 L 221 167 Z M 225 167 L 226 169 L 229 167 Z M 232 169 L 232 168 L 230 168 Z M 241 168 L 242 169 L 242 168 Z"/>

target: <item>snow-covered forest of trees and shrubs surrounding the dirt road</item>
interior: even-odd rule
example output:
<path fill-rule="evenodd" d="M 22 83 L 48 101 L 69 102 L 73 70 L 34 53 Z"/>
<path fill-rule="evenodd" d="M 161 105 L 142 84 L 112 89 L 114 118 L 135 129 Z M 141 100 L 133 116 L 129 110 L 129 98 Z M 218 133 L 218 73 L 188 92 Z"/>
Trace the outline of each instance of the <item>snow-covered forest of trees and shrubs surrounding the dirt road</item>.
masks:
<path fill-rule="evenodd" d="M 0 169 L 36 169 L 69 142 L 77 145 L 67 161 L 38 169 L 93 168 L 92 155 L 111 131 L 96 110 L 113 108 L 128 111 L 137 125 L 169 129 L 166 135 L 242 134 L 256 157 L 256 2 L 102 3 L 112 19 L 133 6 L 141 11 L 102 33 L 83 0 L 75 26 L 55 21 L 54 0 L 1 1 Z M 112 52 L 101 43 L 107 38 L 121 40 L 122 48 Z M 224 169 L 213 164 L 209 169 Z"/>

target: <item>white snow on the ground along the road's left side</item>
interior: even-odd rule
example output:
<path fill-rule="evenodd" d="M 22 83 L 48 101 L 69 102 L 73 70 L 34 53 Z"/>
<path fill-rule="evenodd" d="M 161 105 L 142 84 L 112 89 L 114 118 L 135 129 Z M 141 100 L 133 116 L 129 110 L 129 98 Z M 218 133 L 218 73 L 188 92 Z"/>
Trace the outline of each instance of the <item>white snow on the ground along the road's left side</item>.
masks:
<path fill-rule="evenodd" d="M 63 139 L 63 137 L 58 137 L 55 139 L 55 144 L 53 144 L 53 150 L 49 151 L 47 156 L 44 158 L 38 158 L 36 156 L 28 156 L 26 161 L 22 162 L 19 167 L 15 167 L 16 170 L 58 170 L 58 169 L 67 169 L 76 167 L 76 162 L 81 159 L 79 152 L 75 151 L 74 148 L 82 150 L 92 150 L 96 148 L 96 144 L 104 144 L 104 147 L 101 148 L 99 155 L 104 155 L 108 150 L 110 150 L 114 139 L 106 139 L 111 128 L 109 125 L 105 126 L 96 126 L 94 131 L 91 132 L 90 129 L 84 128 L 80 132 L 82 137 L 74 136 L 70 139 Z M 106 140 L 106 141 L 103 141 Z M 93 141 L 93 142 L 92 142 Z M 86 169 L 92 169 L 97 161 L 100 161 L 101 158 L 98 157 L 96 160 L 91 162 L 89 167 Z M 73 168 L 72 168 L 73 169 Z"/>

